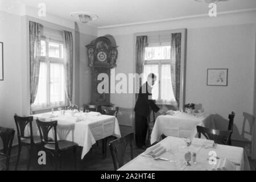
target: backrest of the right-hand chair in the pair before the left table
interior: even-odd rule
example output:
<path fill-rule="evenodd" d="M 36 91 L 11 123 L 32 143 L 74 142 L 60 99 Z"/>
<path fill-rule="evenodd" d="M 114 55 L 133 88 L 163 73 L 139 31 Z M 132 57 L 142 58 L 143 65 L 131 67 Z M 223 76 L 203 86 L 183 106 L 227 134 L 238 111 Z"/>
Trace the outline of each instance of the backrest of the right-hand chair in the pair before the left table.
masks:
<path fill-rule="evenodd" d="M 40 133 L 41 142 L 43 144 L 55 144 L 55 148 L 59 150 L 58 142 L 57 142 L 57 121 L 40 121 L 36 119 L 36 123 L 38 124 L 38 129 Z M 53 129 L 54 140 L 49 140 L 49 131 Z"/>

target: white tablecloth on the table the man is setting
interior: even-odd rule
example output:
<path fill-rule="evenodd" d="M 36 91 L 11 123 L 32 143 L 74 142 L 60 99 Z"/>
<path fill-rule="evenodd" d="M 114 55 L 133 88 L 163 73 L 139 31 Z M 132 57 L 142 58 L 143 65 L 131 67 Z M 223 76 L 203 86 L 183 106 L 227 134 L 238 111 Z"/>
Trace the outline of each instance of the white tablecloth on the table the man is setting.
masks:
<path fill-rule="evenodd" d="M 172 137 L 193 138 L 197 136 L 196 126 L 204 126 L 214 129 L 212 115 L 192 115 L 178 112 L 175 115 L 159 115 L 156 118 L 151 133 L 151 144 L 159 142 L 162 134 Z"/>

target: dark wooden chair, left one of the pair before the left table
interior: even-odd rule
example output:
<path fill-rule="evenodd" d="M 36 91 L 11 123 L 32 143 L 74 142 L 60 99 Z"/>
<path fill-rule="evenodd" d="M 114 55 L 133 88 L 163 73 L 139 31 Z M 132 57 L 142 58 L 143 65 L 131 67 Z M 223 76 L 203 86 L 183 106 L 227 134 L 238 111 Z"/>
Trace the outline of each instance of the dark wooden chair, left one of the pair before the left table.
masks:
<path fill-rule="evenodd" d="M 40 144 L 41 144 L 40 136 L 33 135 L 33 129 L 32 129 L 33 117 L 32 116 L 20 117 L 15 114 L 14 121 L 15 121 L 16 128 L 17 128 L 18 146 L 19 146 L 15 170 L 17 170 L 17 168 L 18 168 L 20 152 L 22 150 L 22 146 L 26 146 L 29 151 L 29 159 L 28 159 L 28 164 L 27 164 L 27 170 L 29 170 L 33 151 L 36 150 L 36 147 L 40 146 Z M 28 136 L 25 135 L 25 130 L 27 129 L 27 127 L 30 132 L 30 134 Z"/>

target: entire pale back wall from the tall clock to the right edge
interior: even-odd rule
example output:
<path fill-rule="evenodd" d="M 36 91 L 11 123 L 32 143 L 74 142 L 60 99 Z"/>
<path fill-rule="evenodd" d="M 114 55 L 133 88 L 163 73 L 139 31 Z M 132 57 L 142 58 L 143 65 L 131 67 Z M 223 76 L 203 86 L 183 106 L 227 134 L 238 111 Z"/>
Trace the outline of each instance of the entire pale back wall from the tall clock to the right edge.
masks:
<path fill-rule="evenodd" d="M 233 110 L 236 113 L 233 138 L 241 139 L 242 112 L 253 114 L 255 23 L 256 12 L 248 11 L 218 15 L 216 18 L 200 16 L 171 22 L 103 27 L 98 35 L 114 36 L 119 46 L 117 71 L 133 73 L 135 33 L 187 28 L 185 102 L 203 104 L 207 113 L 215 115 L 216 127 L 220 129 L 226 129 L 228 114 Z M 207 68 L 228 68 L 228 86 L 206 86 Z M 126 101 L 125 105 L 133 107 L 134 99 L 127 102 L 127 98 L 132 97 L 112 96 L 112 102 L 122 106 Z M 119 122 L 125 125 L 132 123 L 130 119 Z"/>

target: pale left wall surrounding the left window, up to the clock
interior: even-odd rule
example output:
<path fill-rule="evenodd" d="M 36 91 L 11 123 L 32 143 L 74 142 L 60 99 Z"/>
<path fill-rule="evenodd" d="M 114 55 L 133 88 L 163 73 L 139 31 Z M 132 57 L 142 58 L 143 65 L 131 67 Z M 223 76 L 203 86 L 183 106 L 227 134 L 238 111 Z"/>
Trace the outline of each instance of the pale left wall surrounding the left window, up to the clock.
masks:
<path fill-rule="evenodd" d="M 24 13 L 24 11 L 22 12 Z M 27 10 L 25 15 L 10 14 L 0 10 L 0 42 L 3 42 L 4 47 L 4 80 L 0 81 L 0 123 L 3 127 L 16 128 L 13 118 L 14 113 L 19 115 L 30 114 L 29 20 L 42 23 L 47 27 L 72 31 L 74 49 L 76 52 L 80 52 L 80 54 L 75 54 L 74 59 L 73 101 L 80 105 L 80 102 L 88 102 L 90 97 L 84 94 L 85 98 L 80 100 L 80 93 L 90 93 L 88 92 L 90 82 L 89 86 L 84 82 L 84 80 L 89 81 L 86 72 L 88 68 L 86 67 L 87 58 L 84 46 L 96 38 L 97 28 L 79 23 L 77 24 L 78 31 L 75 33 L 75 22 L 59 16 L 47 14 L 46 18 L 40 18 L 31 9 Z M 79 36 L 77 37 L 77 35 Z M 15 137 L 14 144 L 16 143 Z"/>

